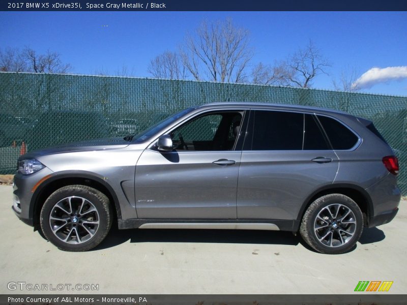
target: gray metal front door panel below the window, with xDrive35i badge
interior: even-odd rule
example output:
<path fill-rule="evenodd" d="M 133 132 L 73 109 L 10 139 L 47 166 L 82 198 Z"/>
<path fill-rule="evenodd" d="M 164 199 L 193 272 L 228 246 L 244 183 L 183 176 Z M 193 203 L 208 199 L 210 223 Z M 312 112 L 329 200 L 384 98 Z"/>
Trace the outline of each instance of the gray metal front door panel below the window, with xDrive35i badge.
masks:
<path fill-rule="evenodd" d="M 140 218 L 236 219 L 240 151 L 144 150 L 135 193 Z M 234 160 L 229 166 L 213 164 Z"/>

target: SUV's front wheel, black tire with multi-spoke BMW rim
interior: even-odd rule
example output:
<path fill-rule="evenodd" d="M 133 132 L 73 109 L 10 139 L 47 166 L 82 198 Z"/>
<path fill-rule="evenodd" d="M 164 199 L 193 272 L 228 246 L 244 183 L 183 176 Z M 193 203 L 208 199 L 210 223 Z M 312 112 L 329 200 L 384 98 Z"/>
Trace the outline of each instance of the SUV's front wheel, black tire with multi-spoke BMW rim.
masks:
<path fill-rule="evenodd" d="M 40 215 L 45 237 L 64 251 L 88 251 L 106 237 L 112 224 L 109 199 L 102 192 L 82 185 L 53 192 Z"/>

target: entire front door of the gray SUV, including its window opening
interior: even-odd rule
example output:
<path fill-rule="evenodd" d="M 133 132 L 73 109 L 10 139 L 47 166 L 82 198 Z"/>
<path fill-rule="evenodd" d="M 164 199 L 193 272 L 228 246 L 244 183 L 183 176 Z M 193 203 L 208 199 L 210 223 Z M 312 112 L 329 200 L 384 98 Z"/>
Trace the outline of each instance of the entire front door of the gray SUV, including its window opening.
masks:
<path fill-rule="evenodd" d="M 173 151 L 144 150 L 135 174 L 138 218 L 236 219 L 243 114 L 198 114 L 167 133 Z"/>

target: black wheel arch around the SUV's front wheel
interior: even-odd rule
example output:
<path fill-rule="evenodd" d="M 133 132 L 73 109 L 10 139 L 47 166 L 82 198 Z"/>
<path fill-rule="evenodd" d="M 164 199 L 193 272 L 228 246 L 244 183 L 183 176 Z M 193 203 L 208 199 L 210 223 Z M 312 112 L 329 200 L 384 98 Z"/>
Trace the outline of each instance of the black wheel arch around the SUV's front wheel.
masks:
<path fill-rule="evenodd" d="M 122 219 L 122 212 L 117 196 L 112 187 L 108 185 L 102 178 L 88 173 L 65 173 L 51 176 L 42 182 L 35 190 L 30 205 L 30 218 L 33 219 L 34 230 L 40 228 L 40 213 L 46 199 L 57 189 L 69 185 L 84 185 L 92 187 L 105 194 L 110 201 L 110 205 L 114 207 L 113 215 L 116 220 Z"/>

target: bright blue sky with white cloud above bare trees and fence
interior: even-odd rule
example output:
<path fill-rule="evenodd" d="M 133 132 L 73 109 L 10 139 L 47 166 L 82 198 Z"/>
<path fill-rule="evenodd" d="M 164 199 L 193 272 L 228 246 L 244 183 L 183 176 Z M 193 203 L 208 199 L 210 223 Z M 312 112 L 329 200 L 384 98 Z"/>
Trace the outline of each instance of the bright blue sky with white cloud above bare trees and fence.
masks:
<path fill-rule="evenodd" d="M 371 70 L 362 92 L 407 96 L 407 12 L 0 12 L 0 47 L 59 52 L 74 74 L 126 66 L 148 77 L 150 60 L 177 50 L 202 19 L 226 17 L 249 30 L 253 64 L 284 59 L 312 39 L 332 63 L 313 87 L 332 89 L 342 71 L 401 67 Z"/>

